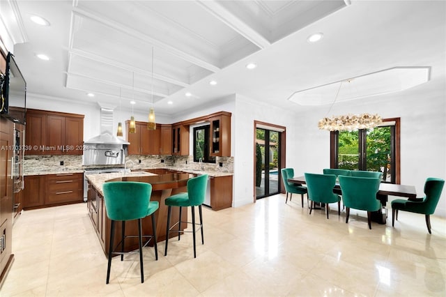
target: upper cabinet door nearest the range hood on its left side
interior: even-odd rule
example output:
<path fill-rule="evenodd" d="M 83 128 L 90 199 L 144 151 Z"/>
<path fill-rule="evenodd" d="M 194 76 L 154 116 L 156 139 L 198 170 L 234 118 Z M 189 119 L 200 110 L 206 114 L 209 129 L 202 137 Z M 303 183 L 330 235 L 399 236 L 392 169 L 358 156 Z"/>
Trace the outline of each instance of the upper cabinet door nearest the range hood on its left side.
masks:
<path fill-rule="evenodd" d="M 84 119 L 66 117 L 65 119 L 65 141 L 63 153 L 66 155 L 82 155 L 82 144 L 84 143 Z"/>

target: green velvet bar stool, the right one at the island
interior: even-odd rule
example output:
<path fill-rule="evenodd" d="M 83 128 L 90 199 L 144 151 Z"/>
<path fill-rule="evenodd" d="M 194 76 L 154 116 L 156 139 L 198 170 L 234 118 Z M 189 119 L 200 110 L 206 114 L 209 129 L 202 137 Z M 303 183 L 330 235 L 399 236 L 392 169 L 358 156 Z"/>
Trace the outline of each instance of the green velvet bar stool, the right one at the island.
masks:
<path fill-rule="evenodd" d="M 204 244 L 203 237 L 203 214 L 201 213 L 201 204 L 203 204 L 206 198 L 206 188 L 208 186 L 208 174 L 203 174 L 194 178 L 190 178 L 187 181 L 187 192 L 178 193 L 172 195 L 164 200 L 166 206 L 169 206 L 167 211 L 167 229 L 166 229 L 166 249 L 164 251 L 164 256 L 167 256 L 167 245 L 169 244 L 169 234 L 171 232 L 178 232 L 178 241 L 180 240 L 181 223 L 192 224 L 192 239 L 194 241 L 194 258 L 197 257 L 197 250 L 195 248 L 195 232 L 197 231 L 197 224 L 195 223 L 195 206 L 198 206 L 200 223 L 198 224 L 198 229 L 201 230 L 201 244 Z M 178 222 L 171 226 L 170 219 L 172 213 L 172 206 L 177 206 L 180 208 L 180 216 Z M 181 208 L 190 206 L 192 210 L 192 222 L 182 222 L 181 221 Z M 174 230 L 178 224 L 178 230 Z M 190 231 L 189 231 L 190 232 Z"/>

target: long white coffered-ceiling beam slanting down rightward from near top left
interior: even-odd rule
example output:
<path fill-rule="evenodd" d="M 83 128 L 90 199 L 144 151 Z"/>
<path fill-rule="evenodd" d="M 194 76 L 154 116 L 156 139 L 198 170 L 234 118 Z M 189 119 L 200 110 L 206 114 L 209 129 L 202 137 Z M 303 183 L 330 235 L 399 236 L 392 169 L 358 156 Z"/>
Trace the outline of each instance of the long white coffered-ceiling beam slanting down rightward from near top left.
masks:
<path fill-rule="evenodd" d="M 86 11 L 81 8 L 73 7 L 72 13 L 74 15 L 78 15 L 79 17 L 87 17 L 91 20 L 94 20 L 95 22 L 99 22 L 101 24 L 104 24 L 105 26 L 109 26 L 110 28 L 121 31 L 125 34 L 128 34 L 129 36 L 132 36 L 134 38 L 138 38 L 139 40 L 143 40 L 146 43 L 150 43 L 154 47 L 160 48 L 161 50 L 164 50 L 166 52 L 169 52 L 169 54 L 173 54 L 174 56 L 178 56 L 178 58 L 183 59 L 189 63 L 192 63 L 194 65 L 197 65 L 201 68 L 205 68 L 207 70 L 210 70 L 212 72 L 217 72 L 220 70 L 220 67 L 216 66 L 213 63 L 209 63 L 208 61 L 204 61 L 203 59 L 199 59 L 196 56 L 193 56 L 192 54 L 188 54 L 187 52 L 184 52 L 182 50 L 178 50 L 178 48 L 173 47 L 171 45 L 168 45 L 167 43 L 163 43 L 160 40 L 157 40 L 155 38 L 151 38 L 150 36 L 141 33 L 135 29 L 130 28 L 129 26 L 125 26 L 125 24 L 122 24 L 120 22 L 115 22 L 114 20 L 110 20 L 107 17 L 99 16 L 95 13 L 91 13 L 89 11 Z"/>

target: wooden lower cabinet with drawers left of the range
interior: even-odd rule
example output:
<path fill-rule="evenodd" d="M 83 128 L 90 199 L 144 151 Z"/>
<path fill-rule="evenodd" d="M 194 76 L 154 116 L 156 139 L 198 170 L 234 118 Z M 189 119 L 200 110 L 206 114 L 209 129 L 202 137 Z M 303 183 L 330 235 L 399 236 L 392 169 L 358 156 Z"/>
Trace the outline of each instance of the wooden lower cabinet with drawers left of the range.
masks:
<path fill-rule="evenodd" d="M 84 201 L 84 175 L 47 174 L 25 176 L 23 208 L 42 208 Z"/>

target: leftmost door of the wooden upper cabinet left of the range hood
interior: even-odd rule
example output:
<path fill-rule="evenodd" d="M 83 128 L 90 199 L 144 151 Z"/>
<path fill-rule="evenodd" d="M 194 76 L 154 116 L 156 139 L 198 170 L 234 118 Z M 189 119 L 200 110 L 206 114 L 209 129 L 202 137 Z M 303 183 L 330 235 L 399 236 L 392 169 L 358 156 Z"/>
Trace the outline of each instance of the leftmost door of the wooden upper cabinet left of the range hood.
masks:
<path fill-rule="evenodd" d="M 47 145 L 47 116 L 26 112 L 25 145 L 26 155 L 43 155 Z"/>

